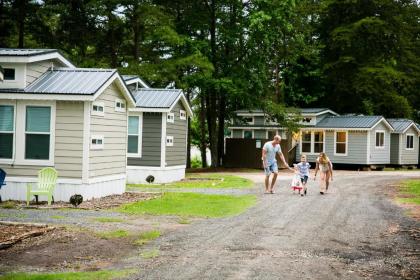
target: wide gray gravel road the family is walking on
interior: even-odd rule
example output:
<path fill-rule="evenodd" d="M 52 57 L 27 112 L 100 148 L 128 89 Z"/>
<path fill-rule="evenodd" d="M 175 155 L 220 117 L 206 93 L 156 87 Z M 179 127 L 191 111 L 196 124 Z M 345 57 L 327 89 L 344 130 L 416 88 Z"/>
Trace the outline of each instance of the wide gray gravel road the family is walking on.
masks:
<path fill-rule="evenodd" d="M 387 185 L 419 172 L 336 173 L 321 196 L 314 182 L 306 197 L 282 177 L 273 195 L 230 218 L 198 221 L 152 242 L 159 257 L 136 260 L 132 279 L 416 279 L 419 240 L 384 194 Z M 258 176 L 256 178 L 261 178 Z M 127 260 L 127 262 L 130 262 Z M 418 278 L 417 278 L 418 279 Z"/>

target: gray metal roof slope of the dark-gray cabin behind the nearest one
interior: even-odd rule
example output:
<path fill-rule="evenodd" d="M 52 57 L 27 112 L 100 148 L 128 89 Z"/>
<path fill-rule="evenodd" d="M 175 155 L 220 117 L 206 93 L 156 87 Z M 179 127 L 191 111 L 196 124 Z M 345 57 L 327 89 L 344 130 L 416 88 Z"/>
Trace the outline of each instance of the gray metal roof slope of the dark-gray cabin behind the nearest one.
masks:
<path fill-rule="evenodd" d="M 140 88 L 133 92 L 136 107 L 170 108 L 182 94 L 180 89 Z"/>

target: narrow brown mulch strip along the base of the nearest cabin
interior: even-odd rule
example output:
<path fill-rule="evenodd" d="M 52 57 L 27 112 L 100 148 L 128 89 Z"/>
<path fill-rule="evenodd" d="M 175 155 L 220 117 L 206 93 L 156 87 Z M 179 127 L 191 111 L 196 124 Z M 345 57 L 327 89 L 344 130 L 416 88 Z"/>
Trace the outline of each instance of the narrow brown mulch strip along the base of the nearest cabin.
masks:
<path fill-rule="evenodd" d="M 125 203 L 132 203 L 137 201 L 149 200 L 159 197 L 158 193 L 134 193 L 134 192 L 125 192 L 121 195 L 109 195 L 101 198 L 96 198 L 88 201 L 82 202 L 77 208 L 86 209 L 86 210 L 100 210 L 100 209 L 110 209 L 118 207 Z M 6 202 L 8 205 L 11 202 Z M 39 204 L 31 202 L 29 206 L 26 206 L 26 202 L 20 201 L 14 203 L 15 208 L 35 208 L 35 209 L 60 209 L 60 208 L 75 208 L 72 204 L 63 201 L 57 201 L 52 205 L 47 205 L 47 202 L 42 201 Z"/>

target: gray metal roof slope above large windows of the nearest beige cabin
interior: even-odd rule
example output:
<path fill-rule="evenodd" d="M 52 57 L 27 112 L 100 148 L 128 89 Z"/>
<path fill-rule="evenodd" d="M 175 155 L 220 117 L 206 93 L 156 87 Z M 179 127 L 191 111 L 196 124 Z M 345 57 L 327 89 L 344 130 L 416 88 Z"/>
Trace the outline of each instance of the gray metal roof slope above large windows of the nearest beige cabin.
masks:
<path fill-rule="evenodd" d="M 95 94 L 115 69 L 54 68 L 25 88 L 24 93 Z"/>

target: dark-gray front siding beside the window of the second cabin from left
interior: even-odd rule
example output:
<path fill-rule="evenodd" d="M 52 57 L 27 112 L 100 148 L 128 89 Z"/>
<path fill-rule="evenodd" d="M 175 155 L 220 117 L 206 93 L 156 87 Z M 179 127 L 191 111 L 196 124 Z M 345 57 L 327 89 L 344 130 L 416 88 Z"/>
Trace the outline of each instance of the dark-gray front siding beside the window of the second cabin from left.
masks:
<path fill-rule="evenodd" d="M 128 158 L 132 166 L 160 166 L 162 114 L 143 113 L 141 158 Z"/>

